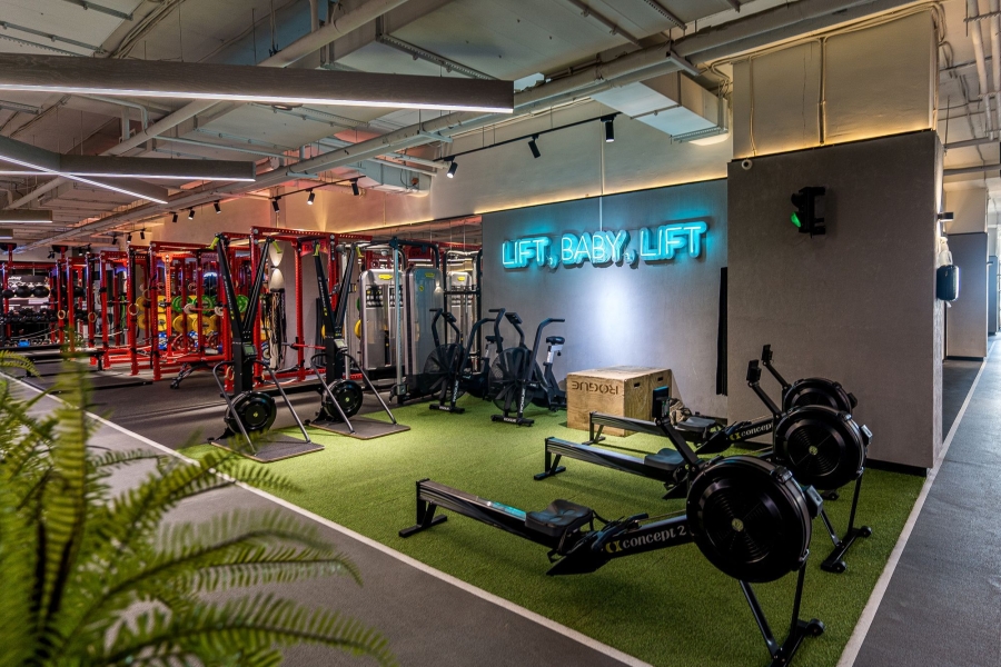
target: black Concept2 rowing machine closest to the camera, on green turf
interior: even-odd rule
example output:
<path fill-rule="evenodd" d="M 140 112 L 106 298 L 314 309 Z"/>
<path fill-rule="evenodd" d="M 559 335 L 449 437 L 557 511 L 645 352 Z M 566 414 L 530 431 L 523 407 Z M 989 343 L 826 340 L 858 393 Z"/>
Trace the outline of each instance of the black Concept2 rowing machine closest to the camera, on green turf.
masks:
<path fill-rule="evenodd" d="M 684 515 L 651 520 L 647 515 L 606 521 L 592 508 L 554 500 L 526 512 L 427 479 L 417 482 L 417 524 L 409 537 L 447 519 L 438 508 L 467 516 L 548 549 L 548 575 L 593 573 L 615 558 L 694 541 L 717 569 L 740 581 L 764 637 L 771 665 L 789 665 L 803 639 L 824 631 L 817 619 L 800 618 L 813 518 L 823 499 L 802 487 L 783 466 L 754 456 L 701 460 L 666 420 L 657 422 L 692 471 Z M 601 527 L 595 527 L 595 522 Z M 775 638 L 752 584 L 799 573 L 792 621 L 784 641 Z"/>

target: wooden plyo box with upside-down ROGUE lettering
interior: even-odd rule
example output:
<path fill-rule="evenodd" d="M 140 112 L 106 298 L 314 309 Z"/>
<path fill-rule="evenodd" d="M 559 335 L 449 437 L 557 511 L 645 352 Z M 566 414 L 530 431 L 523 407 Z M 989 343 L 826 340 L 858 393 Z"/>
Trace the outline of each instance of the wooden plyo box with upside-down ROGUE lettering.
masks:
<path fill-rule="evenodd" d="M 566 425 L 587 430 L 591 412 L 617 417 L 650 419 L 653 390 L 671 386 L 667 368 L 646 366 L 613 366 L 581 370 L 566 376 Z M 631 436 L 634 431 L 605 428 L 609 436 Z"/>

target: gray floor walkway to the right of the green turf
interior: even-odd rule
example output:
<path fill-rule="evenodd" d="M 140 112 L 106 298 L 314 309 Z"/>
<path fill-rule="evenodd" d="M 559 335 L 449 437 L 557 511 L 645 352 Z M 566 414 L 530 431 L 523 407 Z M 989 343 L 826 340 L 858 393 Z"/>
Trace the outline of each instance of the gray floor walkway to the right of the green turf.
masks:
<path fill-rule="evenodd" d="M 965 386 L 969 390 L 970 384 Z M 1001 357 L 993 352 L 929 489 L 856 667 L 1001 664 L 999 410 Z"/>

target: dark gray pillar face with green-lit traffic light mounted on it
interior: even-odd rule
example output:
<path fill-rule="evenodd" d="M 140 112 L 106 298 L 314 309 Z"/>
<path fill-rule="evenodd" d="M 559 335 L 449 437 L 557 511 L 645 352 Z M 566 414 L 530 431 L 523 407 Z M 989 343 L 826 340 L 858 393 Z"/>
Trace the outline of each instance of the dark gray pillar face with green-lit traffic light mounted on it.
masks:
<path fill-rule="evenodd" d="M 926 131 L 730 165 L 730 419 L 762 412 L 744 377 L 771 344 L 787 378 L 830 377 L 855 394 L 873 458 L 932 466 L 938 156 Z M 804 186 L 827 188 L 824 237 L 790 223 L 790 196 Z"/>

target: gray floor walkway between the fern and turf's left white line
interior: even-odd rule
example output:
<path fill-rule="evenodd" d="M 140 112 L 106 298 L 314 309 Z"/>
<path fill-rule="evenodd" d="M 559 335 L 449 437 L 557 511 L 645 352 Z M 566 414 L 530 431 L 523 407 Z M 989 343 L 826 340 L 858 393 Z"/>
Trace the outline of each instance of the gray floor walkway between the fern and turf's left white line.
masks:
<path fill-rule="evenodd" d="M 145 388 L 147 390 L 148 388 Z M 56 407 L 44 398 L 40 411 Z M 93 445 L 118 451 L 151 449 L 149 445 L 99 425 Z M 129 467 L 131 468 L 131 467 Z M 116 489 L 138 484 L 142 468 L 117 474 Z M 224 512 L 293 510 L 239 487 L 212 491 L 182 502 L 171 520 L 202 522 Z M 548 625 L 466 589 L 398 554 L 326 522 L 295 515 L 337 546 L 360 570 L 364 587 L 347 576 L 261 587 L 315 609 L 336 610 L 376 628 L 389 640 L 398 663 L 406 667 L 622 667 L 624 663 Z M 225 595 L 225 594 L 222 594 Z M 606 649 L 607 650 L 607 649 Z M 347 653 L 316 646 L 285 651 L 286 665 L 296 667 L 357 667 L 373 665 Z M 636 665 L 638 661 L 631 661 Z"/>

